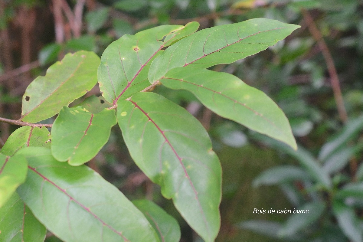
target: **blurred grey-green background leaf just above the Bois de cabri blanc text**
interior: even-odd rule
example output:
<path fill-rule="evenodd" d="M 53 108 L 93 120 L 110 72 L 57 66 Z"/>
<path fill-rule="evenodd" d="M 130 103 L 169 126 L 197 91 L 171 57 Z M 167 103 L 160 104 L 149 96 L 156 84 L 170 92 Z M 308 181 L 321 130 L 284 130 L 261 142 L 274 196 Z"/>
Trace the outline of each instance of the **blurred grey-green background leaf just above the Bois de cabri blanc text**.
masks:
<path fill-rule="evenodd" d="M 286 181 L 309 180 L 306 172 L 293 165 L 281 165 L 262 172 L 252 182 L 254 187 L 260 185 L 274 185 L 285 183 Z"/>

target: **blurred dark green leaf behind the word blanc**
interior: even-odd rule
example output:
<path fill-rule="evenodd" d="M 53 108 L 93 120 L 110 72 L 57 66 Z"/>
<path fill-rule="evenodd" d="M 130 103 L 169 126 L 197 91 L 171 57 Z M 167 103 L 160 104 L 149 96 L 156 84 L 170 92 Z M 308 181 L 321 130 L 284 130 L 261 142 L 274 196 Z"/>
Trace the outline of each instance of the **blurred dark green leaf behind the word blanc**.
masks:
<path fill-rule="evenodd" d="M 299 208 L 298 210 L 305 210 L 308 213 L 293 213 L 296 211 L 292 210 L 293 213 L 285 222 L 278 233 L 281 237 L 292 236 L 299 230 L 303 230 L 306 227 L 316 222 L 325 210 L 325 204 L 322 202 L 309 202 Z"/>

